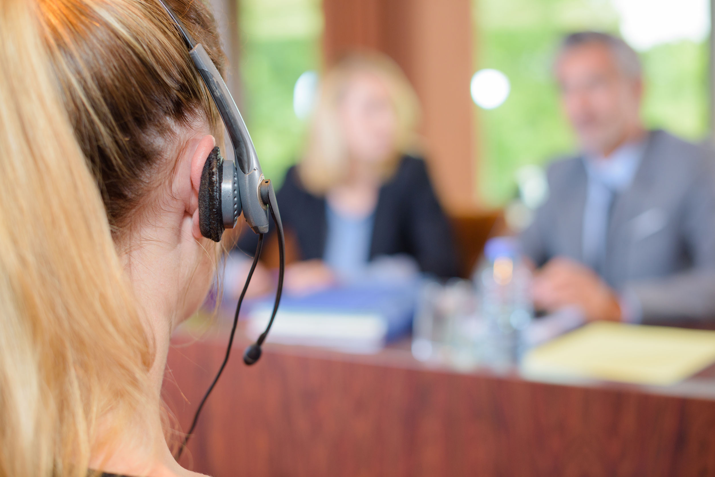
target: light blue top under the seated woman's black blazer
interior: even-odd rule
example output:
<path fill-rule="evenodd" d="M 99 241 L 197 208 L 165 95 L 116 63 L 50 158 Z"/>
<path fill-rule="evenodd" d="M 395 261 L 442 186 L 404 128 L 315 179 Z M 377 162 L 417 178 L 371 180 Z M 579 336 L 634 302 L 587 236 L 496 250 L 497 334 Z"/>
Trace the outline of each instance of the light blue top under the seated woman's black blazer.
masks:
<path fill-rule="evenodd" d="M 340 280 L 354 282 L 364 273 L 370 260 L 375 212 L 367 217 L 340 215 L 325 205 L 327 237 L 323 261 Z"/>

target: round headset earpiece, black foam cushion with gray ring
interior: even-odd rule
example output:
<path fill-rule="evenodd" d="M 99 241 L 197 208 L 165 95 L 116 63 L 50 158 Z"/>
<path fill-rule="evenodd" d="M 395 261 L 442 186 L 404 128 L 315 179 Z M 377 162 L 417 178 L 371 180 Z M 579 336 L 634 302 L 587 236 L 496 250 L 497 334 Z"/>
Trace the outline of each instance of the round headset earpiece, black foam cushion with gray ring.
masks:
<path fill-rule="evenodd" d="M 236 226 L 241 214 L 238 175 L 233 161 L 226 161 L 218 147 L 206 159 L 199 185 L 201 235 L 220 242 L 225 229 Z"/>

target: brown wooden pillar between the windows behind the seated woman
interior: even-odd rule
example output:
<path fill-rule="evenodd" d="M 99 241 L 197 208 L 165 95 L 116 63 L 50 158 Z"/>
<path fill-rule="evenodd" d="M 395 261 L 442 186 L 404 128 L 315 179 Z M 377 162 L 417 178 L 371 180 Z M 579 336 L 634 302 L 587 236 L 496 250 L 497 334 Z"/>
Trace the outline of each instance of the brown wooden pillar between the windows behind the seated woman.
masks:
<path fill-rule="evenodd" d="M 425 159 L 443 205 L 477 205 L 470 0 L 323 0 L 326 64 L 350 49 L 376 49 L 403 68 L 423 107 Z"/>

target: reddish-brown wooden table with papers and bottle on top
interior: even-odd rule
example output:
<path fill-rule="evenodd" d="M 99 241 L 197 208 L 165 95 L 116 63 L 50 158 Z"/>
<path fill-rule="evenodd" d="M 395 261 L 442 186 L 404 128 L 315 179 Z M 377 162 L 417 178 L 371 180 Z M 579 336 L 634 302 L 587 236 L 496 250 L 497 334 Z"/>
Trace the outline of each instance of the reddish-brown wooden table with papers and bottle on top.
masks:
<path fill-rule="evenodd" d="M 227 338 L 175 337 L 164 394 L 186 430 Z M 714 476 L 715 373 L 671 388 L 546 383 L 237 343 L 182 463 L 212 476 Z M 180 390 L 180 391 L 179 391 Z"/>

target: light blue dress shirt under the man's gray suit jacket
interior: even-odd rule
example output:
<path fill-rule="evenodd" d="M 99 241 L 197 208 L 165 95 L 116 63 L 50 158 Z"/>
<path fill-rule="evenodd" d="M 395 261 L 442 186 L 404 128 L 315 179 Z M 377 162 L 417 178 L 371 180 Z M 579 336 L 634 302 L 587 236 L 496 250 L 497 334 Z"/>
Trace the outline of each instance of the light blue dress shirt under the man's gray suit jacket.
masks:
<path fill-rule="evenodd" d="M 644 142 L 630 142 L 608 157 L 586 155 L 583 164 L 588 175 L 586 207 L 583 210 L 583 260 L 603 274 L 608 223 L 616 195 L 626 191 L 633 182 L 645 150 Z M 621 297 L 621 310 L 626 321 L 639 321 L 637 303 L 631 297 Z"/>

